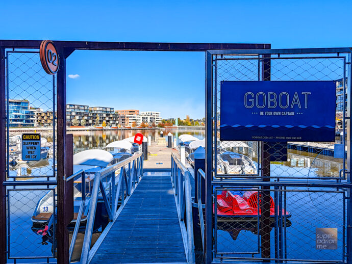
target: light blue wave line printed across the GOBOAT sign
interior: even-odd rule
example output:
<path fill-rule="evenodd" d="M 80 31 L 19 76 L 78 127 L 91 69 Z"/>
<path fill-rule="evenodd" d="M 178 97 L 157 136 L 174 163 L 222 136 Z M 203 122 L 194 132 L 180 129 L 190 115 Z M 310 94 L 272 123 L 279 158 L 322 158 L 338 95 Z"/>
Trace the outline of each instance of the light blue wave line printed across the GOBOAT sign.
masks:
<path fill-rule="evenodd" d="M 324 126 L 318 126 L 318 125 L 311 125 L 311 126 L 306 126 L 306 125 L 298 125 L 298 126 L 292 126 L 292 125 L 228 125 L 228 124 L 222 124 L 220 125 L 220 128 L 233 128 L 233 129 L 243 129 L 243 128 L 249 128 L 251 130 L 255 129 L 265 129 L 265 130 L 271 130 L 273 128 L 280 129 L 280 130 L 288 130 L 288 129 L 293 129 L 293 130 L 302 130 L 302 129 L 310 129 L 310 130 L 320 130 L 320 129 L 335 129 L 335 126 L 331 125 L 324 125 Z"/>

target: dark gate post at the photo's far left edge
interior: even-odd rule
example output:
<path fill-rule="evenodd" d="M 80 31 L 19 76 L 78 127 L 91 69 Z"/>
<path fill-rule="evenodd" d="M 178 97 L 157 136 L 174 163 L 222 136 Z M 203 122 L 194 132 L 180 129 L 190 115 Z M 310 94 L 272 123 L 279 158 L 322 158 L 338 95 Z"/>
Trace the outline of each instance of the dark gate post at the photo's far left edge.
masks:
<path fill-rule="evenodd" d="M 5 112 L 5 48 L 0 48 L 0 264 L 6 263 L 6 112 Z"/>

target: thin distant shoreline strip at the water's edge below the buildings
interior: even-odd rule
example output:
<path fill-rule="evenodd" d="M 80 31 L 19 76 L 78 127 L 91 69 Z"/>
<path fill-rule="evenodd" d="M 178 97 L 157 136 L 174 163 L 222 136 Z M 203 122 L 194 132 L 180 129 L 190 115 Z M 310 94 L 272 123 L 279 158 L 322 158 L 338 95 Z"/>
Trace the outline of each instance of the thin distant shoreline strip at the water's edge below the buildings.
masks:
<path fill-rule="evenodd" d="M 164 130 L 164 129 L 205 129 L 205 126 L 167 126 L 167 127 L 69 127 L 66 126 L 67 131 L 111 131 L 111 130 L 150 130 L 150 129 L 155 129 L 155 130 Z M 13 127 L 10 128 L 10 131 L 16 131 L 16 132 L 33 132 L 33 131 L 53 131 L 53 127 Z"/>

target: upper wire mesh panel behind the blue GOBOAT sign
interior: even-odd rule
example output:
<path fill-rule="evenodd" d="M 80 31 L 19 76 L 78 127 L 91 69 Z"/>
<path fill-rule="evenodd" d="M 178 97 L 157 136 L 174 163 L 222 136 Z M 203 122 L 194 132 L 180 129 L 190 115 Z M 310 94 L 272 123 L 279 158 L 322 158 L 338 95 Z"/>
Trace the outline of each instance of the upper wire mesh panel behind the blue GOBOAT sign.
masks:
<path fill-rule="evenodd" d="M 259 142 L 220 140 L 220 93 L 223 81 L 335 81 L 336 139 L 335 142 L 288 142 L 287 159 L 270 165 L 271 177 L 344 178 L 345 155 L 334 156 L 335 143 L 346 147 L 339 133 L 345 127 L 346 100 L 345 57 L 278 57 L 214 56 L 213 65 L 214 140 L 213 161 L 215 177 L 260 176 Z M 342 82 L 342 85 L 340 84 Z M 339 89 L 338 89 L 339 88 Z M 341 94 L 341 95 L 339 95 Z M 343 97 L 341 99 L 340 97 Z M 339 103 L 338 100 L 342 101 Z M 324 102 L 321 102 L 322 105 Z M 236 113 L 234 113 L 235 115 Z M 272 144 L 268 151 L 280 152 L 280 144 Z M 282 147 L 283 148 L 283 147 Z M 273 160 L 272 160 L 273 161 Z M 215 165 L 216 164 L 216 165 Z"/>

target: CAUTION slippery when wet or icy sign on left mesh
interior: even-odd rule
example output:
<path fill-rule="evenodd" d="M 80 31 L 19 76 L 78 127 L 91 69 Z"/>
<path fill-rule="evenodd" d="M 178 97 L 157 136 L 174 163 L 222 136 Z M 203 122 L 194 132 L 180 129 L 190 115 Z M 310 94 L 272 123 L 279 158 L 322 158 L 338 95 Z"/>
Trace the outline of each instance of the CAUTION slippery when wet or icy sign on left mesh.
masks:
<path fill-rule="evenodd" d="M 40 160 L 40 134 L 22 134 L 22 161 Z"/>

